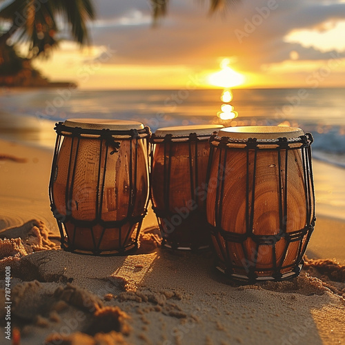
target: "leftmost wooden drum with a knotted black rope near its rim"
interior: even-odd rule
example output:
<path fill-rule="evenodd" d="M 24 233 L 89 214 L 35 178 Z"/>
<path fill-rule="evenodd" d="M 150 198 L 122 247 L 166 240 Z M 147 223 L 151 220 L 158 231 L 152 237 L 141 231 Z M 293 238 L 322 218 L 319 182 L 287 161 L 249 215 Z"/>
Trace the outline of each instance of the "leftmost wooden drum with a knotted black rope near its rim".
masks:
<path fill-rule="evenodd" d="M 69 119 L 55 130 L 50 203 L 61 248 L 93 255 L 137 248 L 148 204 L 148 127 Z"/>

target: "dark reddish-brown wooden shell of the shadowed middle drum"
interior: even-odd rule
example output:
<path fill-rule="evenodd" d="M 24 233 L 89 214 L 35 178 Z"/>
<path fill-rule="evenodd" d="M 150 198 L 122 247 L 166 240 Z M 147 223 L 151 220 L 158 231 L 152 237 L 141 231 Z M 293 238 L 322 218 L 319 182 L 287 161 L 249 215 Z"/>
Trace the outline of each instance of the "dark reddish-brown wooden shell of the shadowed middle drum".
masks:
<path fill-rule="evenodd" d="M 206 191 L 206 170 L 208 164 L 208 142 L 199 142 L 197 152 L 192 144 L 193 159 L 190 170 L 188 143 L 157 144 L 152 163 L 152 202 L 155 208 L 164 210 L 167 215 L 178 215 L 180 221 L 170 216 L 161 217 L 162 235 L 168 243 L 178 243 L 181 247 L 208 246 L 210 243 L 208 224 L 204 208 Z M 165 159 L 164 159 L 165 157 Z M 195 168 L 197 165 L 197 175 Z M 168 166 L 170 179 L 167 181 Z M 164 173 L 164 170 L 166 172 Z M 199 187 L 196 191 L 196 188 Z M 204 191 L 204 193 L 202 193 Z M 197 195 L 199 194 L 199 195 Z M 179 213 L 182 215 L 179 215 Z M 193 220 L 192 220 L 193 219 Z M 180 223 L 180 224 L 179 224 Z M 172 230 L 172 227 L 174 230 Z M 171 229 L 171 231 L 169 231 Z"/>

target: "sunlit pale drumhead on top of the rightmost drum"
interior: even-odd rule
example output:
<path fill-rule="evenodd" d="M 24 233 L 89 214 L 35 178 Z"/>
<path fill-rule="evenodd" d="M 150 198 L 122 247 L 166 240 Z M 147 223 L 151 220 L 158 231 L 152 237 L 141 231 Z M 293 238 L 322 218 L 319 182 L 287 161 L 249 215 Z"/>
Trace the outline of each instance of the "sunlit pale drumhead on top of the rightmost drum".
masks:
<path fill-rule="evenodd" d="M 297 138 L 304 135 L 300 128 L 285 126 L 239 126 L 222 128 L 218 132 L 218 137 L 230 137 L 232 139 L 287 139 Z"/>

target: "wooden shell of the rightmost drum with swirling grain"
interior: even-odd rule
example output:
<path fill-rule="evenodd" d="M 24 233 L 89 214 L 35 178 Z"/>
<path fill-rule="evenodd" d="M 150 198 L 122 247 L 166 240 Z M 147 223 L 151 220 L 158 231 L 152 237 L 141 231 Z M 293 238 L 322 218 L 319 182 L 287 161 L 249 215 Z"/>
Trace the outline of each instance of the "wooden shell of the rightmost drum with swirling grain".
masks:
<path fill-rule="evenodd" d="M 313 198 L 309 212 L 306 205 L 312 182 L 308 179 L 305 183 L 302 159 L 302 150 L 296 147 L 277 150 L 262 144 L 246 150 L 229 144 L 221 150 L 215 149 L 207 217 L 212 226 L 235 233 L 237 238 L 243 234 L 242 240 L 231 241 L 225 241 L 219 233 L 213 235 L 219 259 L 234 268 L 235 273 L 248 275 L 255 267 L 257 275 L 270 276 L 274 273 L 270 268 L 275 265 L 282 266 L 280 273 L 284 274 L 298 264 L 297 257 L 305 250 L 306 235 L 290 243 L 281 235 L 298 233 L 312 221 Z M 265 237 L 270 243 L 263 244 Z"/>

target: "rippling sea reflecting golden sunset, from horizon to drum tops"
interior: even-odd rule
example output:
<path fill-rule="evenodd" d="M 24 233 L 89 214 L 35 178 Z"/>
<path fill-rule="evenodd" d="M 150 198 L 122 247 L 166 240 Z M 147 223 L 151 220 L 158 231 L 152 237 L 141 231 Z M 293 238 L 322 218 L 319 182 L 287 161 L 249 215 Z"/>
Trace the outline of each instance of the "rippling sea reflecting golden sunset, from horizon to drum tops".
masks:
<path fill-rule="evenodd" d="M 295 112 L 286 114 L 284 119 L 277 118 L 275 110 L 284 108 L 284 99 L 293 94 L 293 89 L 236 91 L 234 100 L 237 103 L 234 106 L 239 117 L 234 123 L 237 126 L 286 122 L 288 126 L 300 127 L 313 134 L 313 157 L 345 167 L 344 90 L 311 90 L 308 102 L 293 108 Z M 132 119 L 150 126 L 153 132 L 159 127 L 215 124 L 219 121 L 216 116 L 221 106 L 219 90 L 195 90 L 187 99 L 179 99 L 174 106 L 171 106 L 171 101 L 167 102 L 176 93 L 178 95 L 173 90 L 76 90 L 69 97 L 63 92 L 66 90 L 2 93 L 1 112 L 12 115 L 12 126 L 25 123 L 26 128 L 29 125 L 36 127 L 37 122 L 45 123 L 44 120 L 57 122 L 71 117 Z M 19 117 L 26 117 L 28 121 L 19 120 Z M 10 119 L 9 116 L 7 118 Z M 225 125 L 233 126 L 234 123 Z M 5 126 L 3 119 L 0 124 Z"/>

